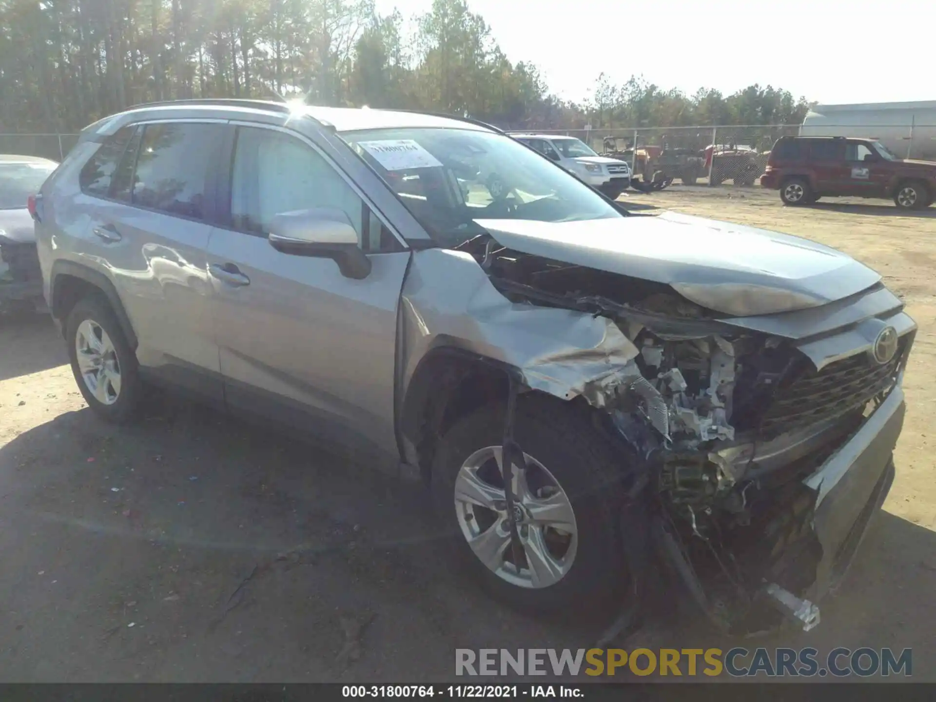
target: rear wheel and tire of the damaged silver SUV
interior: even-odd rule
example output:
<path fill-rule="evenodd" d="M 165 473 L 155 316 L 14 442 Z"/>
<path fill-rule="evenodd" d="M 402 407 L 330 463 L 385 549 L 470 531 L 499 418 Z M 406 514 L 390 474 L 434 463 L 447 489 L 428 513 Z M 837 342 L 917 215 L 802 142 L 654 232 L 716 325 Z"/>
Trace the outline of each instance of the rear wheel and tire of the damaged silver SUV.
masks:
<path fill-rule="evenodd" d="M 72 308 L 66 319 L 66 344 L 71 371 L 88 406 L 107 421 L 132 421 L 143 397 L 137 356 L 103 297 L 90 295 Z M 84 349 L 81 355 L 79 348 Z M 82 368 L 90 368 L 87 375 L 95 377 L 86 380 Z"/>

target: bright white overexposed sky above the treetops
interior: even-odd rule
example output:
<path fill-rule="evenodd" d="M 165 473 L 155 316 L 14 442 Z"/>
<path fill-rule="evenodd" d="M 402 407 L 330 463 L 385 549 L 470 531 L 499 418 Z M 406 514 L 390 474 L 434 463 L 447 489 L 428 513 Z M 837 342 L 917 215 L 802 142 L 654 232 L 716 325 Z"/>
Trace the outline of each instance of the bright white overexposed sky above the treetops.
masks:
<path fill-rule="evenodd" d="M 405 18 L 431 0 L 375 0 Z M 754 83 L 822 104 L 936 100 L 936 0 L 467 0 L 507 58 L 565 99 L 599 74 L 725 95 Z M 917 29 L 918 28 L 918 29 Z"/>

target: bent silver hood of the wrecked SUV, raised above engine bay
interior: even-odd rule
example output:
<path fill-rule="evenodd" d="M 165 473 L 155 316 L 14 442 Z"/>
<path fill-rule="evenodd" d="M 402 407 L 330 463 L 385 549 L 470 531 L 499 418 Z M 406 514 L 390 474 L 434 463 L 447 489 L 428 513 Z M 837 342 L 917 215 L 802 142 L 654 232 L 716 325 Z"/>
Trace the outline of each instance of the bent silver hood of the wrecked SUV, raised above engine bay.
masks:
<path fill-rule="evenodd" d="M 851 256 L 813 241 L 676 212 L 478 224 L 507 248 L 672 285 L 689 300 L 735 316 L 815 307 L 881 279 Z M 769 300 L 759 304 L 758 295 Z M 746 305 L 741 297 L 754 300 Z M 748 307 L 760 309 L 743 311 Z"/>

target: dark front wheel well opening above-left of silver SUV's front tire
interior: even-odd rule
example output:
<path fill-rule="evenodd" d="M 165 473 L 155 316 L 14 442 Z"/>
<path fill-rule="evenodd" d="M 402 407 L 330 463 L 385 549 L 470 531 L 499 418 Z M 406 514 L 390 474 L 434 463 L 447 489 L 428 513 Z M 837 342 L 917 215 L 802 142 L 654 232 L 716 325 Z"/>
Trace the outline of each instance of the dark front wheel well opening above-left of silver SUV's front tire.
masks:
<path fill-rule="evenodd" d="M 429 481 L 439 440 L 461 417 L 506 399 L 507 367 L 439 351 L 419 363 L 403 401 L 402 434 L 416 448 L 419 471 Z"/>

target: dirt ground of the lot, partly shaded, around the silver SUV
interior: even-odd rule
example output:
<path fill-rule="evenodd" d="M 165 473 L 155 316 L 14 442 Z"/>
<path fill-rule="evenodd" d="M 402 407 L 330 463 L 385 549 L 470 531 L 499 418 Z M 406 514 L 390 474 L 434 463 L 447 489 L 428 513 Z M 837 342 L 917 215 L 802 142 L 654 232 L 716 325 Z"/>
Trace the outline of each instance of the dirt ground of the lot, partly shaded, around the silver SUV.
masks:
<path fill-rule="evenodd" d="M 936 680 L 936 208 L 784 208 L 730 186 L 622 199 L 822 241 L 906 301 L 920 329 L 885 512 L 822 625 L 754 645 L 912 648 L 914 680 Z M 65 364 L 48 318 L 0 323 L 0 680 L 451 680 L 456 648 L 597 639 L 602 622 L 476 592 L 419 490 L 183 401 L 117 430 Z M 738 645 L 673 611 L 658 594 L 619 645 Z"/>

